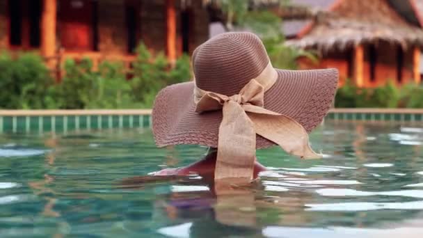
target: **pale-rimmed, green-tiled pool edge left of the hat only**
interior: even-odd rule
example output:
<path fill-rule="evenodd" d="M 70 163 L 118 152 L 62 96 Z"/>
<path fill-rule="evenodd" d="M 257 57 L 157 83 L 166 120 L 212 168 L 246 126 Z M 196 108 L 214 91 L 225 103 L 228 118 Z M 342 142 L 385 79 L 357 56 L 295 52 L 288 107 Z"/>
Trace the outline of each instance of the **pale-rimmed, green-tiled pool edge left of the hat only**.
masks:
<path fill-rule="evenodd" d="M 152 126 L 151 109 L 0 110 L 0 134 L 68 133 Z"/>

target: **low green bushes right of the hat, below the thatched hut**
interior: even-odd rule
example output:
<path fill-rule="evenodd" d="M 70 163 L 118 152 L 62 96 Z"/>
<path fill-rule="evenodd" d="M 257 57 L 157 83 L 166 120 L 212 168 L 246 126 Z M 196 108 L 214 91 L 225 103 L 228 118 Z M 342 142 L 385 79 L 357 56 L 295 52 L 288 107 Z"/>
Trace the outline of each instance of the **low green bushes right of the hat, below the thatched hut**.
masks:
<path fill-rule="evenodd" d="M 423 108 L 423 87 L 406 84 L 398 87 L 393 81 L 376 88 L 358 88 L 347 81 L 337 90 L 338 108 Z"/>

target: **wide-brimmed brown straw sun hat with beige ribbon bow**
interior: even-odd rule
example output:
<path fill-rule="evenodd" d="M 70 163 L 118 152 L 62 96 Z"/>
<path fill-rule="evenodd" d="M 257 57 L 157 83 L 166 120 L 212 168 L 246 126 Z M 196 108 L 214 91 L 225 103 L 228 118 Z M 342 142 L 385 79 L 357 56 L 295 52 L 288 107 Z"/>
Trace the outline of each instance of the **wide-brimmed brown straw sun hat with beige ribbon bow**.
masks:
<path fill-rule="evenodd" d="M 195 49 L 192 60 L 194 81 L 164 88 L 154 102 L 157 145 L 218 148 L 225 153 L 218 161 L 250 157 L 251 150 L 255 156 L 256 148 L 276 144 L 301 157 L 312 154 L 307 134 L 333 102 L 337 70 L 273 68 L 253 33 L 217 35 Z"/>

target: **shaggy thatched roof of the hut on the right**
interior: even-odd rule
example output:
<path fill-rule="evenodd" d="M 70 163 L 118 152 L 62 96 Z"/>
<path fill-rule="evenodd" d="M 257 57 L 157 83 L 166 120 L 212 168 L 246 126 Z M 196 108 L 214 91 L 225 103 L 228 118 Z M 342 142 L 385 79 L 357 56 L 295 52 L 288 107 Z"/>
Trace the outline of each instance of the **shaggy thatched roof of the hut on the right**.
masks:
<path fill-rule="evenodd" d="M 287 44 L 320 51 L 378 41 L 423 46 L 423 31 L 406 22 L 383 0 L 343 1 L 330 15 L 317 17 L 310 29 Z"/>

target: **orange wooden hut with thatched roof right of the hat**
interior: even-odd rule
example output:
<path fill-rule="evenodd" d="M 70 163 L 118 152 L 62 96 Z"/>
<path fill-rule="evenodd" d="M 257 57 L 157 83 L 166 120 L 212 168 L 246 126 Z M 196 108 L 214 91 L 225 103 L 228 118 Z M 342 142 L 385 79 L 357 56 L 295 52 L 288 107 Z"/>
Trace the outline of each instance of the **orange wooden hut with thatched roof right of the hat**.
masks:
<path fill-rule="evenodd" d="M 324 3 L 324 11 L 307 22 L 293 20 L 295 29 L 286 27 L 291 30 L 289 44 L 317 51 L 321 56 L 317 64 L 301 59 L 301 68 L 337 68 L 340 84 L 351 79 L 360 87 L 381 86 L 388 80 L 420 84 L 423 31 L 415 20 L 419 19 L 417 12 L 413 13 L 415 0 L 310 2 Z M 406 15 L 408 8 L 414 17 Z"/>

